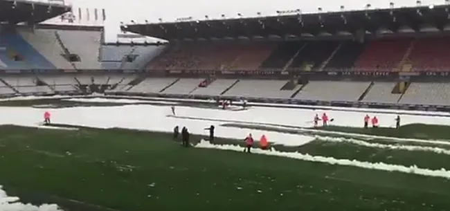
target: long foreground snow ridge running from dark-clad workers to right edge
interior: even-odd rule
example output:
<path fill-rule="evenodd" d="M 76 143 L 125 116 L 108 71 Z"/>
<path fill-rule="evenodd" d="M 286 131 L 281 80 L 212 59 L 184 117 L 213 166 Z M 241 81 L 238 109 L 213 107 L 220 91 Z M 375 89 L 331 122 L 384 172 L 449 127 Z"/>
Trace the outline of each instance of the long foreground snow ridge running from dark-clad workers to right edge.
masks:
<path fill-rule="evenodd" d="M 230 150 L 235 152 L 243 152 L 242 147 L 237 145 L 213 145 L 206 140 L 201 140 L 200 143 L 195 145 L 198 148 L 206 148 L 206 149 L 222 149 L 222 150 Z M 421 169 L 417 166 L 413 165 L 410 167 L 406 167 L 404 165 L 392 165 L 386 163 L 369 163 L 363 162 L 359 160 L 348 160 L 348 159 L 336 159 L 332 157 L 324 157 L 324 156 L 311 156 L 309 154 L 301 154 L 299 152 L 278 152 L 274 149 L 271 150 L 262 150 L 262 149 L 252 149 L 253 154 L 264 154 L 268 156 L 280 156 L 286 158 L 294 158 L 298 160 L 305 160 L 310 162 L 318 162 L 318 163 L 327 163 L 331 165 L 346 165 L 346 166 L 354 166 L 361 167 L 365 169 L 377 169 L 388 172 L 403 172 L 408 174 L 418 174 L 424 176 L 436 176 L 436 177 L 444 177 L 450 178 L 450 171 L 442 168 L 439 170 L 431 170 L 431 169 Z"/>

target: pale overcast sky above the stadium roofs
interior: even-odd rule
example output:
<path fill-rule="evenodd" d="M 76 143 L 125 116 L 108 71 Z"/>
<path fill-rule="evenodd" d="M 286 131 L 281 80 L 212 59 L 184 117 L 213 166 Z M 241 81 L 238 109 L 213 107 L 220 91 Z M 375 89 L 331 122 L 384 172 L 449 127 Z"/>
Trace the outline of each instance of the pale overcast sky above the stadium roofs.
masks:
<path fill-rule="evenodd" d="M 39 1 L 39 0 L 38 0 Z M 42 0 L 40 0 L 42 1 Z M 318 7 L 323 11 L 339 11 L 340 6 L 345 10 L 363 10 L 367 3 L 372 8 L 389 8 L 389 0 L 66 0 L 74 8 L 105 8 L 107 21 L 105 23 L 107 40 L 115 41 L 119 33 L 120 21 L 129 24 L 131 20 L 143 23 L 145 19 L 156 22 L 159 18 L 164 21 L 174 21 L 178 17 L 193 17 L 204 19 L 219 18 L 221 14 L 226 17 L 237 17 L 240 12 L 245 17 L 262 15 L 275 15 L 276 10 L 296 10 L 302 12 L 316 12 Z M 415 0 L 393 0 L 395 7 L 415 6 Z M 422 5 L 444 4 L 445 0 L 422 0 Z M 76 13 L 76 12 L 75 12 Z"/>

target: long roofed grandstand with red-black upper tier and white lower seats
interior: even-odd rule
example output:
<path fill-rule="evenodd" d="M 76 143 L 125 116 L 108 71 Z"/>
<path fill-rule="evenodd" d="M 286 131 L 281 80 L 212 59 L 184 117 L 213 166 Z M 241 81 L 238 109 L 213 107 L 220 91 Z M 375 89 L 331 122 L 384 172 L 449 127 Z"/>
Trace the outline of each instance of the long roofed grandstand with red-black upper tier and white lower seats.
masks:
<path fill-rule="evenodd" d="M 170 43 L 146 69 L 176 75 L 174 84 L 164 82 L 152 86 L 152 91 L 141 90 L 145 93 L 426 104 L 418 100 L 420 96 L 411 99 L 416 95 L 411 93 L 418 93 L 417 86 L 433 84 L 429 78 L 438 76 L 429 72 L 450 70 L 444 53 L 450 40 L 449 9 L 419 6 L 190 20 L 130 24 L 123 30 Z M 208 78 L 213 80 L 206 87 L 197 84 Z M 426 93 L 426 98 L 444 104 L 446 97 L 438 93 L 438 85 L 429 86 L 435 94 Z"/>

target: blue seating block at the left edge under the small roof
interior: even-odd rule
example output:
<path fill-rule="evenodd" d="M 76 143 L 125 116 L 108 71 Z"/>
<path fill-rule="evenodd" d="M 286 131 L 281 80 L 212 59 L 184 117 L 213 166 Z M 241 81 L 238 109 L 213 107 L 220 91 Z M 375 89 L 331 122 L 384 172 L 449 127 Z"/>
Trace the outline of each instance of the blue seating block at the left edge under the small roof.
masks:
<path fill-rule="evenodd" d="M 15 61 L 12 55 L 20 55 L 21 61 Z M 7 69 L 55 69 L 56 67 L 26 42 L 20 35 L 0 35 L 0 60 Z M 0 66 L 1 66 L 0 62 Z"/>

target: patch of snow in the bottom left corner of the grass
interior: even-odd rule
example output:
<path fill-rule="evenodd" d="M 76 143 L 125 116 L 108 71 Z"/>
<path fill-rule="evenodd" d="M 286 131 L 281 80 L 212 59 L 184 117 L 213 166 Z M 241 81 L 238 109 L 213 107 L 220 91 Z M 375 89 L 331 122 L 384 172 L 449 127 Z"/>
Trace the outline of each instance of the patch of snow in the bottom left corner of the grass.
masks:
<path fill-rule="evenodd" d="M 0 210 L 1 211 L 62 211 L 55 204 L 43 204 L 35 206 L 19 202 L 19 197 L 8 196 L 0 185 Z"/>

